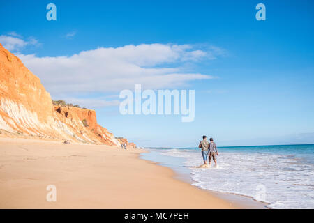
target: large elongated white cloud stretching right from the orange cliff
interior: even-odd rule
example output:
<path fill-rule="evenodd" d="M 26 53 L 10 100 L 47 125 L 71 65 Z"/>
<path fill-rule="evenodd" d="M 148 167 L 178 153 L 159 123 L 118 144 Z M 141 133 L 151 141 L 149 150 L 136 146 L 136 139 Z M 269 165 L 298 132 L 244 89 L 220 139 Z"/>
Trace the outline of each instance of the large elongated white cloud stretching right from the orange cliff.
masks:
<path fill-rule="evenodd" d="M 186 72 L 184 66 L 180 66 L 187 61 L 212 59 L 208 56 L 211 54 L 213 52 L 194 49 L 192 45 L 155 43 L 100 47 L 72 56 L 17 56 L 40 77 L 53 98 L 60 95 L 75 98 L 77 94 L 133 90 L 135 84 L 142 84 L 143 89 L 174 89 L 193 80 L 211 79 L 210 75 Z M 112 102 L 102 103 L 106 106 Z M 101 105 L 99 101 L 97 104 Z"/>

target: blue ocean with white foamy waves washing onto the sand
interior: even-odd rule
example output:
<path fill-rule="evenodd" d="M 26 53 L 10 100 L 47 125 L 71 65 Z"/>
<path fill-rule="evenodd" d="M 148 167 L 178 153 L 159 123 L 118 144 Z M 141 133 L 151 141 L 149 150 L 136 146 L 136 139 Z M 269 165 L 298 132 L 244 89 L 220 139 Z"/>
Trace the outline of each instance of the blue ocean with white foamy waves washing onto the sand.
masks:
<path fill-rule="evenodd" d="M 203 163 L 200 148 L 148 148 L 143 158 L 190 177 L 205 190 L 267 203 L 268 208 L 314 208 L 314 145 L 218 147 L 218 167 Z M 214 162 L 212 162 L 214 166 Z"/>

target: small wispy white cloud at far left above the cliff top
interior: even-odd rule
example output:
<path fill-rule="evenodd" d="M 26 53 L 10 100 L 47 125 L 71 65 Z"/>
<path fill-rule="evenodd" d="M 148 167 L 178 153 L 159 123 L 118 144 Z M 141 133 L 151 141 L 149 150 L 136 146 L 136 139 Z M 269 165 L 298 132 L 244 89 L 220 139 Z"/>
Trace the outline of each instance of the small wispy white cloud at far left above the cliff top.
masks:
<path fill-rule="evenodd" d="M 0 36 L 0 43 L 11 52 L 19 51 L 27 45 L 38 45 L 38 40 L 33 36 L 29 37 L 28 40 L 23 40 L 22 36 L 15 32 L 10 32 L 8 35 Z"/>

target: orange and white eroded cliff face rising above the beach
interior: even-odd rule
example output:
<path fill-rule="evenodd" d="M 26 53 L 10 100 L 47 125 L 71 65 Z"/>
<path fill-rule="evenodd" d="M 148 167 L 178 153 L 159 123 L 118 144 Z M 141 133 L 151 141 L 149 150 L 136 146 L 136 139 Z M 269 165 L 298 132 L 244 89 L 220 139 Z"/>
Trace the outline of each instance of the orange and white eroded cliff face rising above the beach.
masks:
<path fill-rule="evenodd" d="M 98 125 L 94 110 L 52 105 L 40 79 L 1 44 L 0 130 L 47 139 L 121 144 Z"/>

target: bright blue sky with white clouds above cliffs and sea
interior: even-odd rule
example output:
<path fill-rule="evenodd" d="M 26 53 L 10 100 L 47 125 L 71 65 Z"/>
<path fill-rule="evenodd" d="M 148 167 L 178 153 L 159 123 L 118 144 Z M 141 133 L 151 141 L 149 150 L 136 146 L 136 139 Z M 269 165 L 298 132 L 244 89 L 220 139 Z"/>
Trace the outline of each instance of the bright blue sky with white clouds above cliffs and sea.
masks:
<path fill-rule="evenodd" d="M 57 20 L 48 21 L 48 3 Z M 266 20 L 256 20 L 264 3 Z M 0 43 L 53 100 L 138 146 L 314 143 L 313 1 L 3 1 Z M 122 115 L 119 93 L 195 90 L 194 121 Z"/>

